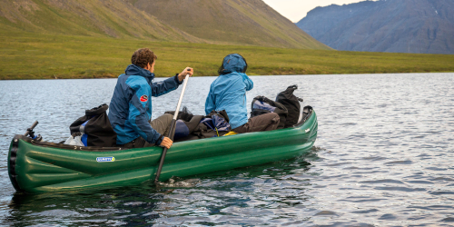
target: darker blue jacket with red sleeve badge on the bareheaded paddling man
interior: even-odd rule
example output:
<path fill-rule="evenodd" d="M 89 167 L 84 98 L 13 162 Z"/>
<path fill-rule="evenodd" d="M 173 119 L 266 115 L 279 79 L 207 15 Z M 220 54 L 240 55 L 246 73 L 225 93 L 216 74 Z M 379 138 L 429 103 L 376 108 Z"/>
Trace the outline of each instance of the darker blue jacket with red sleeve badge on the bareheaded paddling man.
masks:
<path fill-rule="evenodd" d="M 142 136 L 148 143 L 161 144 L 161 134 L 149 123 L 152 96 L 175 90 L 181 84 L 178 77 L 175 75 L 163 82 L 153 83 L 154 74 L 134 64 L 130 64 L 124 73 L 118 76 L 109 107 L 109 121 L 117 133 L 116 143 L 130 143 Z"/>

